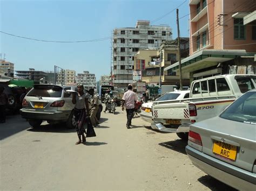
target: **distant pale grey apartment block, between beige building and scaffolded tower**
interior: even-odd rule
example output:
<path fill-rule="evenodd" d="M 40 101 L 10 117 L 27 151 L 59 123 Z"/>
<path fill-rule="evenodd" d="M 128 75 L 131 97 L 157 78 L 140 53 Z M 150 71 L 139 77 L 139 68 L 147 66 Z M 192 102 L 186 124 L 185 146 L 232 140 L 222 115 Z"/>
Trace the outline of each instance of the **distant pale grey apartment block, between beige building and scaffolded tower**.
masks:
<path fill-rule="evenodd" d="M 97 86 L 95 74 L 90 74 L 89 71 L 84 71 L 83 74 L 77 74 L 76 83 L 82 83 L 86 89 Z"/>

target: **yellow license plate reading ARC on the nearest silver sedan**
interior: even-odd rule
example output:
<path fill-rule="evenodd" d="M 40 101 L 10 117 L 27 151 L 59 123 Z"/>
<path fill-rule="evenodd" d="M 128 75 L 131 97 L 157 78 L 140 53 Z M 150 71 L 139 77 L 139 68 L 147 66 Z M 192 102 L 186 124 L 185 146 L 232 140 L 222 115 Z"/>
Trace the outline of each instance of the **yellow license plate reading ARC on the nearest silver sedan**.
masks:
<path fill-rule="evenodd" d="M 235 160 L 235 158 L 237 157 L 237 146 L 223 142 L 214 142 L 212 152 L 215 154 L 219 154 L 225 158 Z"/>

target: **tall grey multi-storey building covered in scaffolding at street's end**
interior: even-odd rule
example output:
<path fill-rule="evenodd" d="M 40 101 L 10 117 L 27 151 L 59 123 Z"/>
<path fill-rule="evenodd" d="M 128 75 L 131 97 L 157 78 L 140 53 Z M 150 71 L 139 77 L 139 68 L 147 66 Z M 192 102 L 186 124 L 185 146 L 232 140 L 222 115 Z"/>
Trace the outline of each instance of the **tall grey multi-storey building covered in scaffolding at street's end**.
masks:
<path fill-rule="evenodd" d="M 172 39 L 170 26 L 150 25 L 149 20 L 138 20 L 135 27 L 113 30 L 112 67 L 113 84 L 126 87 L 132 83 L 134 54 L 139 49 L 158 49 L 165 40 Z"/>

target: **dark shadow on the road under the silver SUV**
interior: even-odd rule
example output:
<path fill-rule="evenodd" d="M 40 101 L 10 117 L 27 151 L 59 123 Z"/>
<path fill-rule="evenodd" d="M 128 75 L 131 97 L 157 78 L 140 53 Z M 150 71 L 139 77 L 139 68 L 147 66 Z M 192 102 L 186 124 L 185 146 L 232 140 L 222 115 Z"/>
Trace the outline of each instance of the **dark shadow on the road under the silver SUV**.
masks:
<path fill-rule="evenodd" d="M 40 125 L 38 128 L 30 128 L 27 131 L 32 132 L 54 132 L 54 133 L 71 133 L 76 132 L 75 129 L 68 129 L 65 125 Z"/>

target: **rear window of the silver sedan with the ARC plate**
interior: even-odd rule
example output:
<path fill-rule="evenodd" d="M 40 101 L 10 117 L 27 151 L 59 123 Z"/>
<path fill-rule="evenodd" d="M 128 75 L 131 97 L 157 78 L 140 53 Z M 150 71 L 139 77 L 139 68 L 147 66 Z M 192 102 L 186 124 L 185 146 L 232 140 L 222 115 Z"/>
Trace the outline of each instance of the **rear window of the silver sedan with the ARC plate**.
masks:
<path fill-rule="evenodd" d="M 221 118 L 256 125 L 256 92 L 249 92 L 228 107 Z"/>

